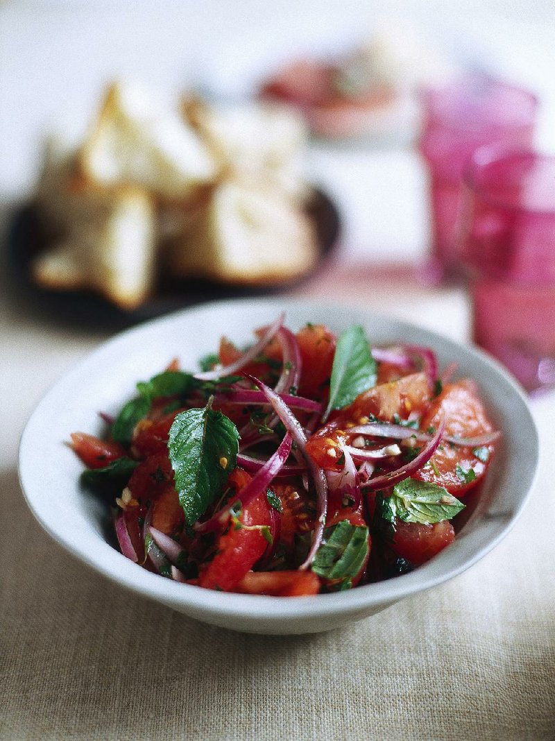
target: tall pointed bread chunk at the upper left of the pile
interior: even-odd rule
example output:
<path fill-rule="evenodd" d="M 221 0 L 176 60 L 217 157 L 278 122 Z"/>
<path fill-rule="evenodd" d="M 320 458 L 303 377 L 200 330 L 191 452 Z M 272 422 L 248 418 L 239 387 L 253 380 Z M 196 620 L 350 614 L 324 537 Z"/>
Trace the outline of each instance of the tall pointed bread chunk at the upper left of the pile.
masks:
<path fill-rule="evenodd" d="M 179 113 L 156 110 L 139 87 L 114 83 L 79 155 L 92 182 L 136 185 L 155 196 L 187 200 L 216 178 L 216 162 Z"/>

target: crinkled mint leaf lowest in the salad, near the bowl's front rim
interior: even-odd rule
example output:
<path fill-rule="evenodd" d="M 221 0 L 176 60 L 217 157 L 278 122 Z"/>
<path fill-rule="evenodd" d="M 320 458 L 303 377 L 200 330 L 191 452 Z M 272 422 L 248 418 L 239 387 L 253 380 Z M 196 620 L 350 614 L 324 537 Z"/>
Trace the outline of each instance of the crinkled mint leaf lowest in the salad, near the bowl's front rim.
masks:
<path fill-rule="evenodd" d="M 368 556 L 368 528 L 344 519 L 328 528 L 325 542 L 316 551 L 312 571 L 324 579 L 351 579 Z"/>

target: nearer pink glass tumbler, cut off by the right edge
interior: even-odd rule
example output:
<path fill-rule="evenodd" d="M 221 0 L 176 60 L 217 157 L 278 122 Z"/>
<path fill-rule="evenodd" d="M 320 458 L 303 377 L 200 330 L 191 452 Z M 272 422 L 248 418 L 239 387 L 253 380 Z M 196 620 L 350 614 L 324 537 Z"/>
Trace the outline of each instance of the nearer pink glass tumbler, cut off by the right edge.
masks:
<path fill-rule="evenodd" d="M 485 147 L 465 190 L 474 339 L 528 391 L 555 388 L 555 156 Z"/>

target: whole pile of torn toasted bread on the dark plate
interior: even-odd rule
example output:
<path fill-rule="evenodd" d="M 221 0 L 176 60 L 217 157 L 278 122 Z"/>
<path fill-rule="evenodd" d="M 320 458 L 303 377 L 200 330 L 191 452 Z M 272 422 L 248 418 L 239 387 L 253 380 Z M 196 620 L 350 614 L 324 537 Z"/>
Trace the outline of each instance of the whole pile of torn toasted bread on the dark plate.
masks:
<path fill-rule="evenodd" d="M 302 177 L 306 127 L 283 107 L 164 107 L 114 82 L 75 149 L 50 141 L 36 188 L 42 288 L 93 290 L 128 310 L 159 282 L 293 281 L 318 245 Z"/>

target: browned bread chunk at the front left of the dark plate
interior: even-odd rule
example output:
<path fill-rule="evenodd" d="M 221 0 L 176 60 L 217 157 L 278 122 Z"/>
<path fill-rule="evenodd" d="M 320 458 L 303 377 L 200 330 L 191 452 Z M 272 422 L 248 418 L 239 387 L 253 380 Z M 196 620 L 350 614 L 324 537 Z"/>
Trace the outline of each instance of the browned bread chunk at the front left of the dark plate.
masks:
<path fill-rule="evenodd" d="M 59 242 L 34 259 L 33 278 L 43 288 L 102 293 L 124 309 L 147 298 L 155 277 L 155 219 L 152 199 L 143 190 L 122 187 L 102 196 L 84 190 Z"/>

